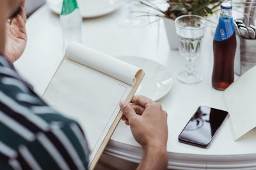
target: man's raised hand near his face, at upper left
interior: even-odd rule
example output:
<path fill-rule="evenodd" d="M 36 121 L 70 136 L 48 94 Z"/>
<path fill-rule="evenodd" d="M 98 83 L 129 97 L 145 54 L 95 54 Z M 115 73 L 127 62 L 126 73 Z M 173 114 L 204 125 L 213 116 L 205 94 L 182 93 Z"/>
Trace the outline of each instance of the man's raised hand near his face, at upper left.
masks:
<path fill-rule="evenodd" d="M 6 45 L 4 55 L 10 62 L 19 59 L 27 43 L 25 0 L 22 0 L 19 13 L 6 21 Z"/>

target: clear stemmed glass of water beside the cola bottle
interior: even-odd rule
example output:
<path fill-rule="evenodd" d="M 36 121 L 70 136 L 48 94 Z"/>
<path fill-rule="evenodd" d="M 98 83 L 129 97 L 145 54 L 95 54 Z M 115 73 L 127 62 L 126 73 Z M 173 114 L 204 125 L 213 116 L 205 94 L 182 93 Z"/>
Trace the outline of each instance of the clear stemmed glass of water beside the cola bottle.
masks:
<path fill-rule="evenodd" d="M 203 80 L 202 74 L 195 70 L 194 60 L 200 53 L 206 22 L 205 18 L 198 15 L 182 15 L 175 19 L 179 52 L 187 60 L 186 70 L 177 75 L 177 79 L 182 83 L 195 84 Z"/>

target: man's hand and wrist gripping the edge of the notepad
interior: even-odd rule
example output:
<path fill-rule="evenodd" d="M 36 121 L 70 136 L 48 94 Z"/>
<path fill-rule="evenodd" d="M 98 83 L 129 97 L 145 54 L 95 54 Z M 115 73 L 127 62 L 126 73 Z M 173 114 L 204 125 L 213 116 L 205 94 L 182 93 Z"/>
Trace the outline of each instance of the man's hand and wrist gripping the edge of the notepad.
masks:
<path fill-rule="evenodd" d="M 131 105 L 122 101 L 122 120 L 131 126 L 132 135 L 143 148 L 143 158 L 138 169 L 165 169 L 168 163 L 167 113 L 147 97 L 134 96 Z"/>

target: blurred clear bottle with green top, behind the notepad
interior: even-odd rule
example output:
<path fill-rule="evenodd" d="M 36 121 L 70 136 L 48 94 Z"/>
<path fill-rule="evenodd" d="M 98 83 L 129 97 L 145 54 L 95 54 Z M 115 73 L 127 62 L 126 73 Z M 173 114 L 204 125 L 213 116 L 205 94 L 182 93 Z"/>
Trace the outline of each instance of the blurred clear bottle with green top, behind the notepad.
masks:
<path fill-rule="evenodd" d="M 77 6 L 76 0 L 63 0 L 60 15 L 60 22 L 63 34 L 63 52 L 65 52 L 70 41 L 81 43 L 81 28 L 83 18 Z"/>

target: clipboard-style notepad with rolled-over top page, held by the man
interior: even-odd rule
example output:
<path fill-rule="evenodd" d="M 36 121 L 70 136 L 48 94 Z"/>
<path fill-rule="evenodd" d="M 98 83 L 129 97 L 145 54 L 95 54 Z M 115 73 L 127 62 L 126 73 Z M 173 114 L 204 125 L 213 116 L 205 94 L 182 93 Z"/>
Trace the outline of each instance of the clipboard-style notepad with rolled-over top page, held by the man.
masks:
<path fill-rule="evenodd" d="M 44 99 L 76 120 L 88 139 L 93 169 L 145 73 L 138 67 L 72 42 L 44 92 Z"/>

